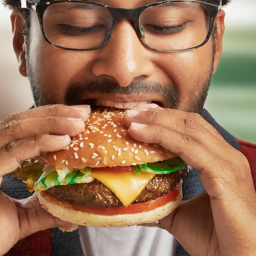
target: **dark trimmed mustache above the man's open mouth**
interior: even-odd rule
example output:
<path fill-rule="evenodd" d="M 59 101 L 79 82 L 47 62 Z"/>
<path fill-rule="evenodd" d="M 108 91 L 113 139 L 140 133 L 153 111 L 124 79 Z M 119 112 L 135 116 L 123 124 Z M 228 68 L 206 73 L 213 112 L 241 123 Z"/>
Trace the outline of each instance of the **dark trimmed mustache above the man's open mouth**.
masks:
<path fill-rule="evenodd" d="M 109 79 L 87 80 L 70 84 L 65 90 L 65 104 L 75 105 L 85 100 L 92 99 L 95 94 L 120 94 L 120 95 L 145 95 L 148 94 L 162 100 L 167 108 L 178 107 L 178 92 L 176 88 L 163 85 L 161 83 L 152 83 L 138 80 L 127 86 L 120 86 Z M 149 99 L 150 100 L 150 99 Z"/>

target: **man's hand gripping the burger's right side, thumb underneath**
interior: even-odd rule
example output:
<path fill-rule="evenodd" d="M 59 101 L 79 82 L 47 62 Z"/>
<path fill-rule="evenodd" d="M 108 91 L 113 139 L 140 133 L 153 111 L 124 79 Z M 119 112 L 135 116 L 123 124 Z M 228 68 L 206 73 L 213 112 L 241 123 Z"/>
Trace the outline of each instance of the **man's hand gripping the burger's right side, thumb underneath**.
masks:
<path fill-rule="evenodd" d="M 140 103 L 124 115 L 138 141 L 157 143 L 200 171 L 206 192 L 160 220 L 193 255 L 255 255 L 256 193 L 249 163 L 200 115 Z M 191 184 L 193 186 L 193 184 Z"/>

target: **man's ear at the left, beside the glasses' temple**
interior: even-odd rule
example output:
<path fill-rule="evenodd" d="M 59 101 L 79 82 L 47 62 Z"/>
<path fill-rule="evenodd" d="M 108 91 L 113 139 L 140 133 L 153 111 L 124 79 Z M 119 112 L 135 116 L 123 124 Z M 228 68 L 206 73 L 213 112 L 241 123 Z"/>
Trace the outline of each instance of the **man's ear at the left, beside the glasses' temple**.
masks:
<path fill-rule="evenodd" d="M 21 11 L 13 11 L 11 13 L 11 26 L 13 32 L 13 49 L 18 60 L 18 67 L 22 76 L 27 76 L 27 67 L 25 61 L 25 43 L 21 30 L 25 24 L 25 20 Z"/>

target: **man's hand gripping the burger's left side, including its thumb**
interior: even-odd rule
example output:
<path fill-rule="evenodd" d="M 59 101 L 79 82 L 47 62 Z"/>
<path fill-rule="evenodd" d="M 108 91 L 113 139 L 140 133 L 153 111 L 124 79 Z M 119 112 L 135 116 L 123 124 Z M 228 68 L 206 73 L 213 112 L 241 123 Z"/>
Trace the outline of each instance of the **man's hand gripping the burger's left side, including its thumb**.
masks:
<path fill-rule="evenodd" d="M 24 160 L 56 151 L 70 144 L 85 128 L 89 106 L 51 105 L 12 114 L 0 121 L 0 184 L 2 176 L 14 171 Z M 18 240 L 40 230 L 77 228 L 52 217 L 38 202 L 37 195 L 15 200 L 0 191 L 0 255 Z"/>

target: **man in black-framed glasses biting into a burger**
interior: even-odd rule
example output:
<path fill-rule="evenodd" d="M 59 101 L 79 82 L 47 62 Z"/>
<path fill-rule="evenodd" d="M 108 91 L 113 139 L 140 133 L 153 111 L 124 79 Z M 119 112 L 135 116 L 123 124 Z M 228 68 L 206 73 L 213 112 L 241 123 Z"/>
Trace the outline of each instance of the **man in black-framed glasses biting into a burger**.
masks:
<path fill-rule="evenodd" d="M 36 195 L 19 201 L 1 192 L 1 254 L 34 233 L 9 255 L 173 255 L 170 234 L 191 255 L 256 254 L 255 148 L 251 170 L 238 141 L 203 109 L 222 52 L 220 7 L 227 2 L 59 1 L 39 4 L 36 13 L 34 3 L 7 0 L 19 70 L 38 108 L 1 122 L 2 191 L 25 197 L 8 173 L 25 159 L 67 146 L 84 129 L 88 105 L 111 105 L 131 109 L 124 121 L 132 137 L 160 144 L 194 168 L 184 199 L 199 195 L 160 220 L 162 229 L 61 233 L 49 228 L 76 227 L 50 216 Z M 176 251 L 186 255 L 180 245 Z"/>

